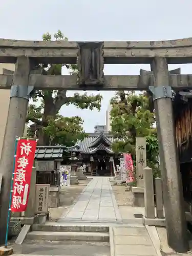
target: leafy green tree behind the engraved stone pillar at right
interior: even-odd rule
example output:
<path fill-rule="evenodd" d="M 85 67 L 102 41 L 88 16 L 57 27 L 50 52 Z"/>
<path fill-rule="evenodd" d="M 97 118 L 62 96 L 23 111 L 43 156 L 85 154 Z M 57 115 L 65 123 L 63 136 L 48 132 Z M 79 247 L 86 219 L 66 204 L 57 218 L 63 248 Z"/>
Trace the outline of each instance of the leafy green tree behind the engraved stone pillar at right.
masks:
<path fill-rule="evenodd" d="M 153 127 L 155 115 L 147 93 L 116 92 L 111 107 L 111 133 L 119 139 L 112 145 L 114 152 L 131 153 L 135 160 L 136 137 L 146 137 L 147 164 L 153 168 L 154 176 L 159 176 L 159 148 Z"/>

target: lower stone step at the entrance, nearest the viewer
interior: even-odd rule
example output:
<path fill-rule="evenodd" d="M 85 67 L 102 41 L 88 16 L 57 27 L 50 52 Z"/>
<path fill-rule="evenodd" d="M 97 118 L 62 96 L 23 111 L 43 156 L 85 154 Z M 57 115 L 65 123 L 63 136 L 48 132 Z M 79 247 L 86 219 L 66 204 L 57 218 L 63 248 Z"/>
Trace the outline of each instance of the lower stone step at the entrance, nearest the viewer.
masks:
<path fill-rule="evenodd" d="M 109 242 L 109 233 L 103 232 L 60 232 L 32 231 L 26 236 L 27 240 L 45 241 L 92 241 Z"/>

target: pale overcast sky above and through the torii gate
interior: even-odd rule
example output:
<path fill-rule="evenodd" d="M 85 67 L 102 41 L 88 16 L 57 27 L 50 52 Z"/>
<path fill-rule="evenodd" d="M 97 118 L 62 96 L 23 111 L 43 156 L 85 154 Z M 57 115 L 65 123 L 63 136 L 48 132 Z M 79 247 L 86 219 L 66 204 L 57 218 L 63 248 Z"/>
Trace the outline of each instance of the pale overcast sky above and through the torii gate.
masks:
<path fill-rule="evenodd" d="M 72 41 L 166 40 L 192 37 L 191 0 L 2 0 L 0 37 L 40 40 L 45 32 L 60 29 Z M 181 67 L 192 73 L 192 65 Z M 149 65 L 105 65 L 106 75 L 138 75 Z M 92 93 L 92 92 L 89 92 Z M 71 92 L 69 93 L 72 94 Z M 101 111 L 62 106 L 64 116 L 81 116 L 86 132 L 105 123 L 113 92 L 102 92 Z"/>

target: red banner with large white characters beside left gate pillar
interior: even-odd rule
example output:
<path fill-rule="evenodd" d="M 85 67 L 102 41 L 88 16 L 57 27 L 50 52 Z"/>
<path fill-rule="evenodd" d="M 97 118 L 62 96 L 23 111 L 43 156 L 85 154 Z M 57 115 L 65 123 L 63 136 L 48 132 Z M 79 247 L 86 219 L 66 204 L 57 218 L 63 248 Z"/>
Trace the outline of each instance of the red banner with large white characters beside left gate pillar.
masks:
<path fill-rule="evenodd" d="M 25 211 L 28 203 L 36 140 L 17 141 L 11 211 Z"/>

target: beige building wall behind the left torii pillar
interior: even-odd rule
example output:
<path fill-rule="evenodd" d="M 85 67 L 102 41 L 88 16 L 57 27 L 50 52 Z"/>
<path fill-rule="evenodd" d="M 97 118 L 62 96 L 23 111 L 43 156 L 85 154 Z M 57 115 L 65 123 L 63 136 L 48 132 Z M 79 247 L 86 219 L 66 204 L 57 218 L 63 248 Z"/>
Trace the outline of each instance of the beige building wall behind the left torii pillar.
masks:
<path fill-rule="evenodd" d="M 0 63 L 0 74 L 14 74 L 15 64 Z M 7 123 L 7 115 L 9 110 L 10 90 L 0 90 L 0 159 L 2 155 L 2 147 L 4 141 L 5 128 Z M 27 136 L 27 125 L 25 127 L 24 136 Z"/>

